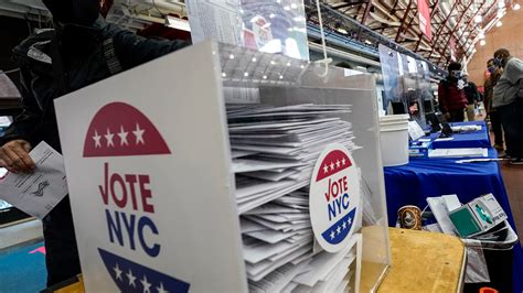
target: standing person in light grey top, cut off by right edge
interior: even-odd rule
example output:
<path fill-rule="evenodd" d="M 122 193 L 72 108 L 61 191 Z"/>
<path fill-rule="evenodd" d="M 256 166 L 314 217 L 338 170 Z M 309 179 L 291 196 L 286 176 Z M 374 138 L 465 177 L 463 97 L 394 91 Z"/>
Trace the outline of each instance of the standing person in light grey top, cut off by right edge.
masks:
<path fill-rule="evenodd" d="M 511 164 L 523 164 L 523 62 L 506 48 L 494 52 L 494 64 L 503 68 L 494 86 L 492 107 L 500 112 Z"/>

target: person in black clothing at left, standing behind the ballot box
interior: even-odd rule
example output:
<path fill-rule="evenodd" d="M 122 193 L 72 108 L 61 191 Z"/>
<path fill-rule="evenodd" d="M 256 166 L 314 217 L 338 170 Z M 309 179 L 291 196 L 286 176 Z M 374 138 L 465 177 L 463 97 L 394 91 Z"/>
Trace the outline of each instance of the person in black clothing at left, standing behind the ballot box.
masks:
<path fill-rule="evenodd" d="M 13 50 L 24 111 L 0 141 L 0 166 L 13 173 L 34 169 L 29 152 L 41 141 L 61 151 L 53 99 L 188 45 L 108 24 L 99 15 L 98 0 L 43 2 L 54 30 L 41 30 Z M 81 273 L 68 196 L 42 223 L 51 286 Z"/>

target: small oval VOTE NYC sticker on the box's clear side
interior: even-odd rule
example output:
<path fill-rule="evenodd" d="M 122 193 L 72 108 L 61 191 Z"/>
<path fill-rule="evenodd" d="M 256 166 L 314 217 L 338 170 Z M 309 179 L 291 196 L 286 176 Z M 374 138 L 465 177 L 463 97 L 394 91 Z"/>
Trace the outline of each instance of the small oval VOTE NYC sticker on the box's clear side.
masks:
<path fill-rule="evenodd" d="M 309 206 L 318 243 L 329 252 L 346 247 L 360 213 L 360 176 L 344 145 L 329 144 L 320 154 L 310 182 Z"/>

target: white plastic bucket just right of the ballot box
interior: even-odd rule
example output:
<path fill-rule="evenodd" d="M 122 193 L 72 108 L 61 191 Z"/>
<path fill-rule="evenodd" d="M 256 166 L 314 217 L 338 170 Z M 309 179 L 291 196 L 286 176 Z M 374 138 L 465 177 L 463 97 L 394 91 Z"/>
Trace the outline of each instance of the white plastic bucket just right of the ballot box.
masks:
<path fill-rule="evenodd" d="M 408 128 L 392 126 L 380 128 L 383 166 L 408 164 Z"/>

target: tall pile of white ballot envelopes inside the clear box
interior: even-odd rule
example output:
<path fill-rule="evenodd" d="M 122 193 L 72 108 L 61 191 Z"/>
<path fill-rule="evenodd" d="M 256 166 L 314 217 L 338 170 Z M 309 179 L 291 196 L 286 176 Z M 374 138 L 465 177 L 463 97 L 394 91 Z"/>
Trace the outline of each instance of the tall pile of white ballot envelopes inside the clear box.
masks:
<path fill-rule="evenodd" d="M 342 292 L 352 251 L 317 252 L 309 217 L 310 177 L 327 144 L 355 150 L 349 105 L 227 105 L 249 289 Z"/>

